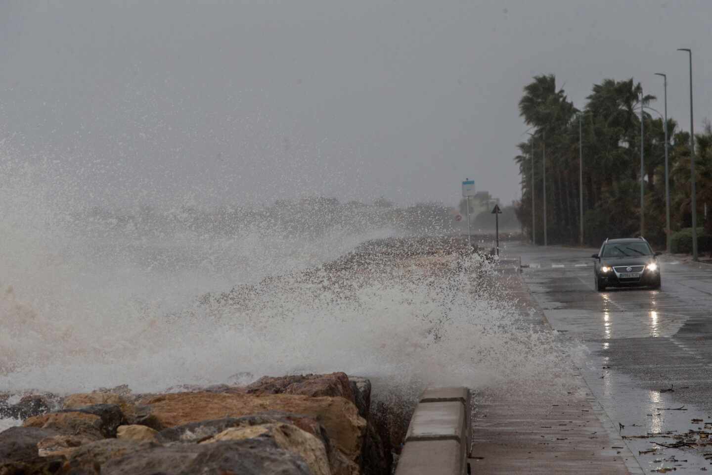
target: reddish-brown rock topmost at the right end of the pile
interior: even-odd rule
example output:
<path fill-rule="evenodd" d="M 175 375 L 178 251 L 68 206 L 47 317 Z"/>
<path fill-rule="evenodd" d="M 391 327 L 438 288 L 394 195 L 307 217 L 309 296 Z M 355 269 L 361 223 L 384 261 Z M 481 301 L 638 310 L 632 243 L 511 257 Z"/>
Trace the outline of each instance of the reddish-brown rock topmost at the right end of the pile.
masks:
<path fill-rule="evenodd" d="M 248 385 L 245 390 L 254 395 L 340 396 L 355 403 L 349 377 L 343 372 L 329 375 L 266 376 Z"/>

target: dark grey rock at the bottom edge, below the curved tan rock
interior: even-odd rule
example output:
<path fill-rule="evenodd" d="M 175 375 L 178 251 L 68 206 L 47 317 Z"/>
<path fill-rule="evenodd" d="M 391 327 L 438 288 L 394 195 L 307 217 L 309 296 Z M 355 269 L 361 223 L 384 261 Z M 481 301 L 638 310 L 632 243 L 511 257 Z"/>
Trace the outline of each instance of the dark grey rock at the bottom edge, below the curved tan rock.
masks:
<path fill-rule="evenodd" d="M 111 459 L 102 475 L 309 475 L 303 459 L 257 438 L 214 444 L 179 444 L 142 449 Z"/>

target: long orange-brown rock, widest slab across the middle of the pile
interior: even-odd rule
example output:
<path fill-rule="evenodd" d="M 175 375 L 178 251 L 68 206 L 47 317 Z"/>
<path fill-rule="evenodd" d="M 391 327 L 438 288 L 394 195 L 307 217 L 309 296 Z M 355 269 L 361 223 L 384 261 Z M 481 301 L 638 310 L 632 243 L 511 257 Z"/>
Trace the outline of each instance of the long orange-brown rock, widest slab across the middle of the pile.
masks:
<path fill-rule="evenodd" d="M 357 463 L 366 430 L 366 421 L 358 415 L 356 406 L 343 397 L 183 392 L 149 397 L 142 404 L 164 427 L 270 410 L 304 414 L 323 425 L 337 449 Z"/>

